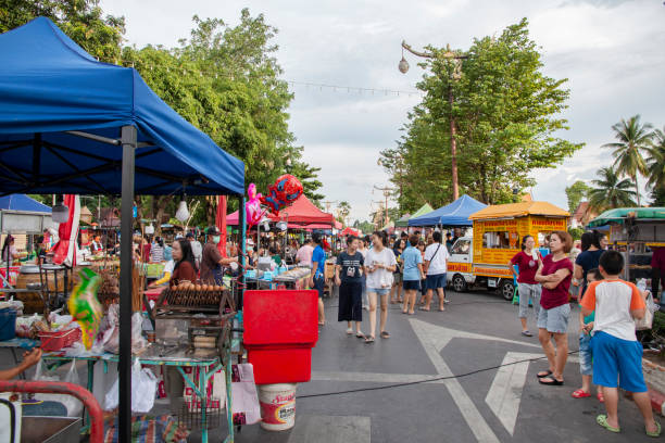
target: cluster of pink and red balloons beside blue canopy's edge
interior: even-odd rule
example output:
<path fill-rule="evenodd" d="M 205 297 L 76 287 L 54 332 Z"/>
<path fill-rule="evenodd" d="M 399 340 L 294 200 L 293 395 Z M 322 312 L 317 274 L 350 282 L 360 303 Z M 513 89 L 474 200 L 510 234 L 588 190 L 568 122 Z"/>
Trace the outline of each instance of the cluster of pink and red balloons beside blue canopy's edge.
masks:
<path fill-rule="evenodd" d="M 268 187 L 267 195 L 258 194 L 254 183 L 249 186 L 247 192 L 249 201 L 244 204 L 244 211 L 248 225 L 252 227 L 258 225 L 266 213 L 261 204 L 265 205 L 271 214 L 277 216 L 279 211 L 290 206 L 302 195 L 302 183 L 292 175 L 285 174 Z"/>

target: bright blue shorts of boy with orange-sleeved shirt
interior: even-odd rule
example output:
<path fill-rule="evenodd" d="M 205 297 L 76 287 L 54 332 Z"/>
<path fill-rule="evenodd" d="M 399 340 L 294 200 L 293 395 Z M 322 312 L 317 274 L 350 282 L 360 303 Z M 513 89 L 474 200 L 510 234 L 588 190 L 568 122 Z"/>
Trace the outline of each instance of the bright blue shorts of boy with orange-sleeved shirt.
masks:
<path fill-rule="evenodd" d="M 642 374 L 642 345 L 638 341 L 617 339 L 598 331 L 591 339 L 593 350 L 593 384 L 647 392 Z"/>

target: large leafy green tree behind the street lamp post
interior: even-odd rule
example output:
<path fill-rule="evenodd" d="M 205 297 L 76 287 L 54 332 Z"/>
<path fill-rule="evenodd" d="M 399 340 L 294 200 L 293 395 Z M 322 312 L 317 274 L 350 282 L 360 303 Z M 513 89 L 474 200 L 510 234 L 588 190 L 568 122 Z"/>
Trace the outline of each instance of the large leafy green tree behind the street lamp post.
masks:
<path fill-rule="evenodd" d="M 409 114 L 398 145 L 380 159 L 403 188 L 402 211 L 424 201 L 450 202 L 451 137 L 457 142 L 460 193 L 486 203 L 513 201 L 514 189 L 535 183 L 535 168 L 554 167 L 581 147 L 557 136 L 567 129 L 561 117 L 569 96 L 566 79 L 544 75 L 527 26 L 523 20 L 498 38 L 474 40 L 467 52 L 452 51 L 466 56 L 461 64 L 443 56 L 448 50 L 428 48 L 435 56 L 421 64 L 427 68 L 417 85 L 423 102 Z"/>

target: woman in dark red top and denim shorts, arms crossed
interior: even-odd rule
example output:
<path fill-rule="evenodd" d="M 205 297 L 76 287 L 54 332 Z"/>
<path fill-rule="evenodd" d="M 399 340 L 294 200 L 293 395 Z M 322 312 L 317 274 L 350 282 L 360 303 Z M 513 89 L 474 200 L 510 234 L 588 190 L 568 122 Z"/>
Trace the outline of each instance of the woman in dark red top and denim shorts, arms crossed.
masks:
<path fill-rule="evenodd" d="M 538 381 L 541 384 L 563 384 L 563 370 L 568 358 L 568 289 L 573 278 L 573 263 L 568 258 L 568 252 L 572 246 L 573 239 L 568 232 L 552 232 L 551 254 L 542 260 L 536 273 L 536 281 L 542 284 L 538 339 L 550 363 L 550 370 L 538 372 Z M 552 338 L 556 349 L 552 344 Z"/>

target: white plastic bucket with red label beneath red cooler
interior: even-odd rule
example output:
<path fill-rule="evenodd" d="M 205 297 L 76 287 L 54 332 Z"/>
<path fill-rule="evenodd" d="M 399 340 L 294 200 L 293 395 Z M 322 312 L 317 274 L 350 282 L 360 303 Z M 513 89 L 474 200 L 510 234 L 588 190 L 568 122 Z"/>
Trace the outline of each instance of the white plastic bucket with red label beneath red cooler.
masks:
<path fill-rule="evenodd" d="M 259 384 L 261 427 L 267 431 L 284 431 L 296 423 L 297 383 Z"/>

